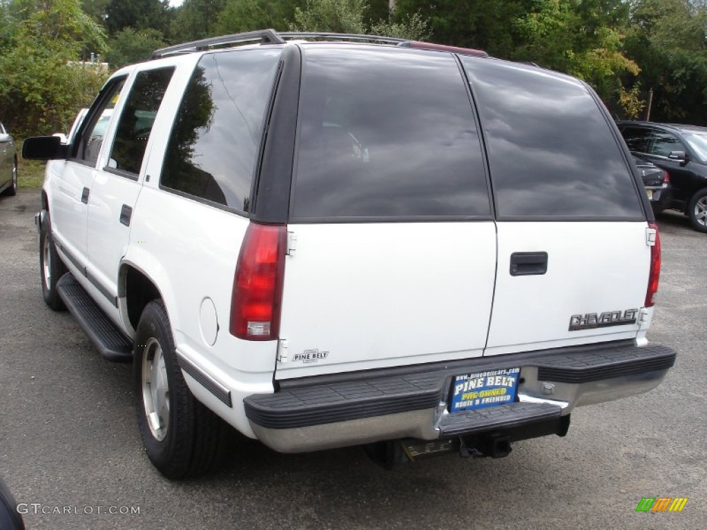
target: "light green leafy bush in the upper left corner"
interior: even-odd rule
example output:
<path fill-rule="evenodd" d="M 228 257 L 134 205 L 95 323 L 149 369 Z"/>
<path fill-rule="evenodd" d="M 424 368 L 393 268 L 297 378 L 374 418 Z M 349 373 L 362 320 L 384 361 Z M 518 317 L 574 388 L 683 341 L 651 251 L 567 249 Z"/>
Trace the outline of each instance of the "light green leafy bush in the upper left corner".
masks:
<path fill-rule="evenodd" d="M 14 27 L 0 56 L 0 115 L 18 134 L 66 131 L 105 80 L 100 67 L 80 62 L 105 49 L 103 30 L 79 0 L 13 2 Z"/>

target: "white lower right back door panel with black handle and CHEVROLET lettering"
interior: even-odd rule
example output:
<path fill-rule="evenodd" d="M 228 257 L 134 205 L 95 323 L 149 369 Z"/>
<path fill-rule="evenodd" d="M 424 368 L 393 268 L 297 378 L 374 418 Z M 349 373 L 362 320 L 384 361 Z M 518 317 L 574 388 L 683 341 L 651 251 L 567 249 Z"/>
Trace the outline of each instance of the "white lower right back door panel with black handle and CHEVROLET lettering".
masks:
<path fill-rule="evenodd" d="M 498 223 L 485 355 L 635 338 L 650 272 L 647 223 Z M 547 254 L 545 273 L 515 254 Z M 536 271 L 537 272 L 537 271 Z"/>

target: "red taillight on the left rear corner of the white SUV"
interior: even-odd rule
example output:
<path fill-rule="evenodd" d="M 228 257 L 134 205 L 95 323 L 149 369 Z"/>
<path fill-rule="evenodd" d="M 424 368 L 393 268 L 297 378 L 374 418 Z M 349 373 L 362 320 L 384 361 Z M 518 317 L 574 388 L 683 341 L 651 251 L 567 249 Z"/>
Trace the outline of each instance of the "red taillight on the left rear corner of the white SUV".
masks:
<path fill-rule="evenodd" d="M 233 278 L 232 335 L 248 341 L 278 337 L 286 245 L 284 225 L 248 225 Z"/>

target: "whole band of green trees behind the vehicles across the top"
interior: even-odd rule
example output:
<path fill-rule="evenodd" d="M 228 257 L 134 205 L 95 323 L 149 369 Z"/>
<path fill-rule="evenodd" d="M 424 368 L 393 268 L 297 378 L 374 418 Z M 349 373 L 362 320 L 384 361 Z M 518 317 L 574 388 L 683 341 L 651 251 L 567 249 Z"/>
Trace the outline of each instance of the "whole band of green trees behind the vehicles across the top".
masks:
<path fill-rule="evenodd" d="M 54 132 L 111 68 L 176 42 L 262 28 L 389 35 L 485 49 L 590 83 L 610 109 L 707 124 L 707 0 L 0 0 L 0 115 Z M 104 29 L 105 28 L 105 29 Z M 106 37 L 107 34 L 107 37 Z M 72 62 L 74 61 L 74 62 Z"/>

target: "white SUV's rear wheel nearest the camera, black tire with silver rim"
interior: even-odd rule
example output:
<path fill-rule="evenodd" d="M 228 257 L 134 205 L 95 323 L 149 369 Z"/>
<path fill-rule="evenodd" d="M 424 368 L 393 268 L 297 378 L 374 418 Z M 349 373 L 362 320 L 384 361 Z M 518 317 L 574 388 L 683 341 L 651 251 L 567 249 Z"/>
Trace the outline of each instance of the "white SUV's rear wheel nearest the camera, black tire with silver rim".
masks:
<path fill-rule="evenodd" d="M 170 479 L 209 471 L 223 454 L 226 425 L 189 391 L 162 300 L 142 312 L 133 353 L 137 423 L 148 458 Z"/>

